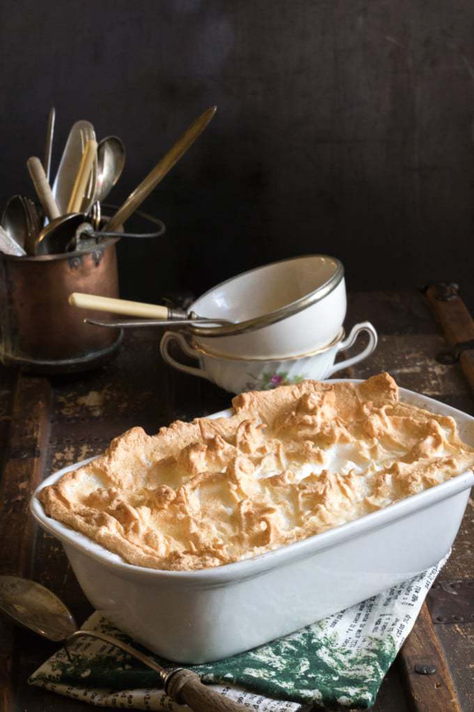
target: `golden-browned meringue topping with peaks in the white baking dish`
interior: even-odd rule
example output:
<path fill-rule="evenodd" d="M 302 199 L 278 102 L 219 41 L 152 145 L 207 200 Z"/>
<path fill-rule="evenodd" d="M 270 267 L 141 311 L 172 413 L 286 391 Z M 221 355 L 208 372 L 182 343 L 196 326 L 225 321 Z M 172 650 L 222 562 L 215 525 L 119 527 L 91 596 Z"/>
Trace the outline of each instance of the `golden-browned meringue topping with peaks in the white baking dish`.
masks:
<path fill-rule="evenodd" d="M 474 466 L 456 422 L 388 374 L 241 394 L 228 419 L 133 428 L 41 492 L 48 515 L 127 562 L 219 566 L 279 548 Z"/>

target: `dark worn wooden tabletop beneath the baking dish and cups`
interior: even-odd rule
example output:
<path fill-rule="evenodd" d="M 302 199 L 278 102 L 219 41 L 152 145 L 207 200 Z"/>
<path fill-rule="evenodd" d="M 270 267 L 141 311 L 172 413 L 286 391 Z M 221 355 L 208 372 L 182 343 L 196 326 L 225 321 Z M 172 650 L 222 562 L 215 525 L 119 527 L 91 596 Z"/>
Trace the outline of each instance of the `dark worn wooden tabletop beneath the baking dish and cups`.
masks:
<path fill-rule="evenodd" d="M 347 326 L 364 320 L 377 328 L 377 350 L 338 376 L 368 377 L 387 370 L 400 386 L 474 413 L 460 367 L 436 361 L 446 344 L 423 295 L 350 295 Z M 15 372 L 0 370 L 1 572 L 19 573 L 50 587 L 65 600 L 78 622 L 90 614 L 90 604 L 60 544 L 33 525 L 28 513 L 31 490 L 51 472 L 100 453 L 112 437 L 131 426 L 141 425 L 151 434 L 174 419 L 210 414 L 230 403 L 230 394 L 164 365 L 158 352 L 159 336 L 158 330 L 127 333 L 117 359 L 87 374 L 18 377 Z M 473 505 L 470 500 L 451 558 L 439 577 L 443 582 L 474 580 Z M 4 621 L 0 626 L 2 711 L 75 712 L 89 708 L 28 686 L 28 675 L 57 646 Z M 434 629 L 460 708 L 472 712 L 474 622 L 436 624 Z M 421 624 L 416 630 L 423 634 Z M 382 684 L 375 712 L 405 712 L 414 706 L 433 712 L 431 697 L 417 698 L 404 671 L 406 660 L 399 656 Z M 431 684 L 429 680 L 427 684 Z M 446 712 L 449 709 L 446 707 Z"/>

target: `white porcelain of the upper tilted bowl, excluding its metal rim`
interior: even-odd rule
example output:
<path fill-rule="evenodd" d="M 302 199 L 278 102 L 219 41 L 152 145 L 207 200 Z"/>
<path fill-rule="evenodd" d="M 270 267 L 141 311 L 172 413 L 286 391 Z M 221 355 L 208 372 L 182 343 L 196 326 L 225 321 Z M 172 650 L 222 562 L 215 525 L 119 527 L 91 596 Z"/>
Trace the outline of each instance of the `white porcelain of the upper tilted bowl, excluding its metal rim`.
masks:
<path fill-rule="evenodd" d="M 203 317 L 239 323 L 268 314 L 323 286 L 338 263 L 308 255 L 245 272 L 203 294 L 190 310 Z M 301 312 L 246 334 L 196 337 L 205 350 L 227 356 L 285 357 L 325 346 L 343 325 L 347 308 L 344 278 L 330 293 Z"/>

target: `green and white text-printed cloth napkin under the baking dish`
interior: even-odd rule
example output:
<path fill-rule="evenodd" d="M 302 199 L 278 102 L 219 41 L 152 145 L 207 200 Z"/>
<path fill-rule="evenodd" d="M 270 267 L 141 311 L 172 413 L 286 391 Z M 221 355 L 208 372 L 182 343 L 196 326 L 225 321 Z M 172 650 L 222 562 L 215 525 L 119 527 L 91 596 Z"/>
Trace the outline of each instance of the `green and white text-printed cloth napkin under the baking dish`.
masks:
<path fill-rule="evenodd" d="M 284 638 L 188 667 L 203 682 L 259 712 L 296 712 L 308 705 L 368 708 L 447 558 L 410 581 Z M 97 612 L 82 628 L 112 634 L 144 650 Z M 113 646 L 84 638 L 68 646 L 68 653 L 63 648 L 51 656 L 33 673 L 30 684 L 98 706 L 188 709 L 156 687 L 153 671 Z M 164 667 L 173 666 L 154 657 Z"/>

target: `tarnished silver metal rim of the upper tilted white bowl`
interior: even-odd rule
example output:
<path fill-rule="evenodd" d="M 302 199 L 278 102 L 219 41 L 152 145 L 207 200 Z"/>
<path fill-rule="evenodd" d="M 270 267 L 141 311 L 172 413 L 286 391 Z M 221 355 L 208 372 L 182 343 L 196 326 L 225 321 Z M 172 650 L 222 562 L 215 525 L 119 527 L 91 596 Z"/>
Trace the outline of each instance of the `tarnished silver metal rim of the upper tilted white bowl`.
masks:
<path fill-rule="evenodd" d="M 208 294 L 210 294 L 217 288 L 222 287 L 225 284 L 228 284 L 228 283 L 234 281 L 235 279 L 238 279 L 239 277 L 243 277 L 244 275 L 247 275 L 247 274 L 252 274 L 252 272 L 257 272 L 265 267 L 270 267 L 272 265 L 276 265 L 281 262 L 291 262 L 293 260 L 301 260 L 302 258 L 305 258 L 305 257 L 323 257 L 325 259 L 332 260 L 333 262 L 335 262 L 334 274 L 332 276 L 330 276 L 328 281 L 326 281 L 324 284 L 321 284 L 321 286 L 319 286 L 313 292 L 310 292 L 309 294 L 306 294 L 303 297 L 300 297 L 299 299 L 296 299 L 295 301 L 291 302 L 290 304 L 286 304 L 284 307 L 276 309 L 273 312 L 269 312 L 268 314 L 262 314 L 261 316 L 257 316 L 253 319 L 248 319 L 246 321 L 241 321 L 237 324 L 229 324 L 229 325 L 218 326 L 218 327 L 203 327 L 203 326 L 192 327 L 192 326 L 189 326 L 186 330 L 195 336 L 205 336 L 205 337 L 208 337 L 208 336 L 222 337 L 222 336 L 234 336 L 236 334 L 245 334 L 245 333 L 248 333 L 249 331 L 262 329 L 265 326 L 270 326 L 271 324 L 276 324 L 277 322 L 281 321 L 282 319 L 286 319 L 290 316 L 298 314 L 298 312 L 301 312 L 303 309 L 306 309 L 306 308 L 310 307 L 311 305 L 316 304 L 316 302 L 325 298 L 328 294 L 330 294 L 333 290 L 335 290 L 335 288 L 338 286 L 338 284 L 344 277 L 343 263 L 340 262 L 337 257 L 330 257 L 329 255 L 298 255 L 297 257 L 293 257 L 289 260 L 278 260 L 276 262 L 270 262 L 267 265 L 255 267 L 254 269 L 248 270 L 247 272 L 242 272 L 242 273 L 236 275 L 235 277 L 230 277 L 230 279 L 226 279 L 224 282 L 217 284 L 215 287 L 212 287 L 210 290 L 208 290 L 207 292 L 202 294 L 196 301 L 207 296 Z"/>

